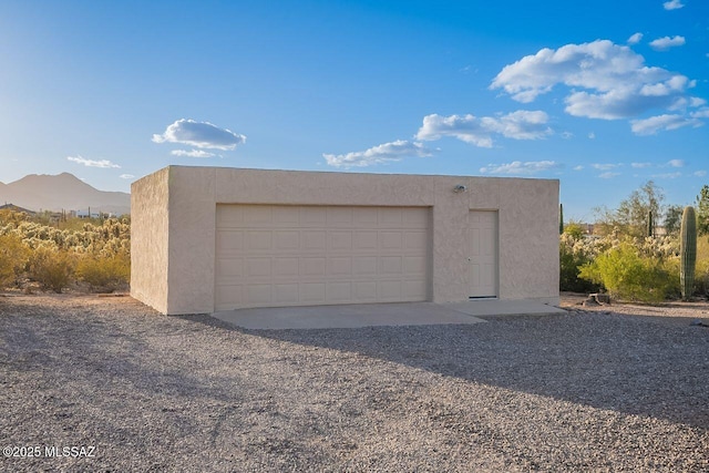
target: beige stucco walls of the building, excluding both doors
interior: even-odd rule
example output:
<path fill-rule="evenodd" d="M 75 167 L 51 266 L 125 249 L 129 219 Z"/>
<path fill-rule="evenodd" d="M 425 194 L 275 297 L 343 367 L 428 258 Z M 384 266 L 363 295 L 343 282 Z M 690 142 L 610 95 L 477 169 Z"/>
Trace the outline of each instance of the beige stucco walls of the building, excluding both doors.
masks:
<path fill-rule="evenodd" d="M 136 182 L 132 199 L 132 294 L 166 313 L 214 310 L 217 204 L 430 206 L 433 301 L 467 298 L 467 213 L 497 210 L 500 298 L 558 304 L 555 179 L 171 166 Z"/>

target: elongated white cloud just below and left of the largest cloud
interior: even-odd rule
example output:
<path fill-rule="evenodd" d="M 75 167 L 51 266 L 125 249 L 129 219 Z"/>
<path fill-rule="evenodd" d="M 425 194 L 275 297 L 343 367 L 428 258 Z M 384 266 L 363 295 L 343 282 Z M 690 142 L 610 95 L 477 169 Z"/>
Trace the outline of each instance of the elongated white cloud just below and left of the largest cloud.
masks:
<path fill-rule="evenodd" d="M 546 125 L 548 116 L 541 111 L 518 110 L 497 117 L 476 117 L 467 114 L 423 117 L 417 140 L 433 141 L 452 136 L 480 147 L 492 147 L 493 135 L 500 134 L 513 140 L 538 140 L 552 133 Z"/>

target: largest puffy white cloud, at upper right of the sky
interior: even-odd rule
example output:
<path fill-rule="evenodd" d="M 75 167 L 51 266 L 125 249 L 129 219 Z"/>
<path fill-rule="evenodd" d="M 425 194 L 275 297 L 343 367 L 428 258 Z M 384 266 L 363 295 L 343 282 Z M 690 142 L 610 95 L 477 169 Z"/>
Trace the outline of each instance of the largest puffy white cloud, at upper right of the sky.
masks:
<path fill-rule="evenodd" d="M 568 88 L 565 111 L 574 116 L 618 120 L 654 109 L 696 106 L 688 95 L 696 81 L 648 66 L 629 47 L 608 40 L 542 49 L 505 65 L 490 89 L 530 103 L 557 85 Z"/>

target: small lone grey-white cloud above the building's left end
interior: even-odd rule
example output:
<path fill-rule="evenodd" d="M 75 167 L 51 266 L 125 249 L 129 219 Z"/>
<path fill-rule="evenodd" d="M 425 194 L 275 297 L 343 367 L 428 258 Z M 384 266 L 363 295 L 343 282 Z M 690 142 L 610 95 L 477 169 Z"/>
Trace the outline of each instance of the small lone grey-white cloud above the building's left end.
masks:
<path fill-rule="evenodd" d="M 168 125 L 162 135 L 153 135 L 155 143 L 179 143 L 212 150 L 234 150 L 246 142 L 246 136 L 226 128 L 219 128 L 208 122 L 177 120 Z"/>

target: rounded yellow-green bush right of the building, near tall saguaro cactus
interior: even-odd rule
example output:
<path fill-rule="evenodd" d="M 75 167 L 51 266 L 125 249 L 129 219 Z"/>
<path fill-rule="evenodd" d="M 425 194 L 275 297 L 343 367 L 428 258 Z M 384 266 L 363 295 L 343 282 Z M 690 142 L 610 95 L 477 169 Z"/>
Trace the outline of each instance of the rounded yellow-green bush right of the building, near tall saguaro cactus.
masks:
<path fill-rule="evenodd" d="M 666 266 L 661 259 L 641 256 L 631 244 L 621 243 L 584 265 L 579 277 L 602 284 L 618 299 L 658 302 L 671 288 Z"/>

